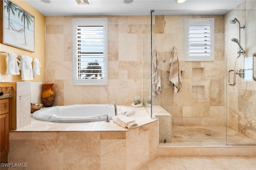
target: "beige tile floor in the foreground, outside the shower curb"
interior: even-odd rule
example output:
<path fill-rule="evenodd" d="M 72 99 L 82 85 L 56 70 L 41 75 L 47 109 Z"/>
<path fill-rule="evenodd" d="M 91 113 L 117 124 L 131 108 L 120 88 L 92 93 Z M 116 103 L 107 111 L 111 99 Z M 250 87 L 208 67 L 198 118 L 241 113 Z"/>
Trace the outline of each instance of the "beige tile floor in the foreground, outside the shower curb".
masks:
<path fill-rule="evenodd" d="M 256 170 L 256 156 L 157 156 L 137 170 Z"/>

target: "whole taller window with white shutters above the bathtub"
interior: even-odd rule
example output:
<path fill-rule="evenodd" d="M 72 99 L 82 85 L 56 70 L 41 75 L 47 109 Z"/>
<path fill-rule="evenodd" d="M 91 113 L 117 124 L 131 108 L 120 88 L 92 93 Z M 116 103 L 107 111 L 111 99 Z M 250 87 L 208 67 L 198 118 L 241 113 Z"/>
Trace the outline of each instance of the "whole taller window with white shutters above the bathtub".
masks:
<path fill-rule="evenodd" d="M 108 85 L 108 18 L 73 19 L 73 85 Z"/>

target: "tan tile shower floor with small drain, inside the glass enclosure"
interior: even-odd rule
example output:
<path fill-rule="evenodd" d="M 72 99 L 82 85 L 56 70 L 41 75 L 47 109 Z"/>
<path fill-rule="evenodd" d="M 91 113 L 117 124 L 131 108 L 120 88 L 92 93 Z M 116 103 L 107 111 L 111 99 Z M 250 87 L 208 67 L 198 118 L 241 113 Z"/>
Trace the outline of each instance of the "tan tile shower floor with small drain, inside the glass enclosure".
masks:
<path fill-rule="evenodd" d="M 172 126 L 172 141 L 166 143 L 256 143 L 256 140 L 224 126 Z"/>

